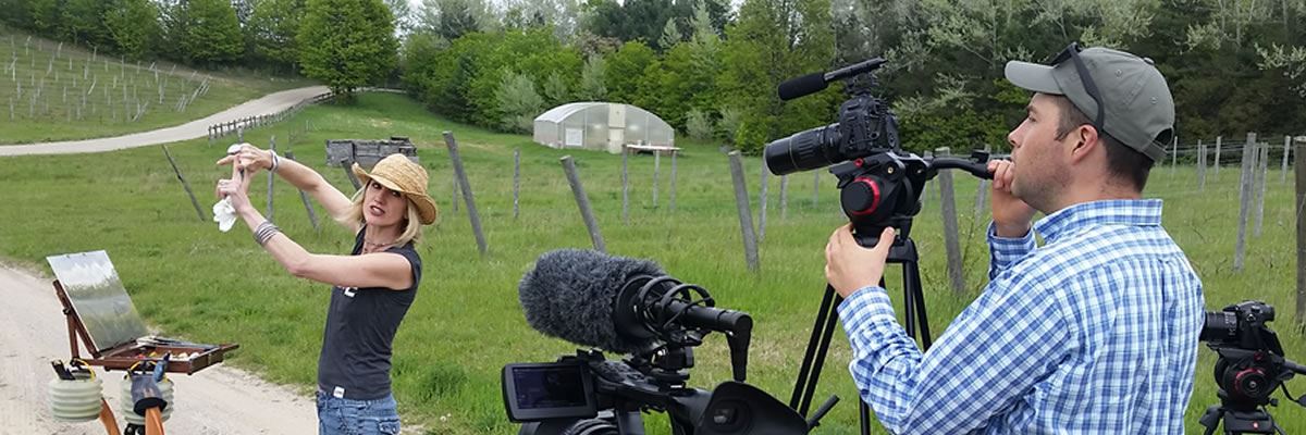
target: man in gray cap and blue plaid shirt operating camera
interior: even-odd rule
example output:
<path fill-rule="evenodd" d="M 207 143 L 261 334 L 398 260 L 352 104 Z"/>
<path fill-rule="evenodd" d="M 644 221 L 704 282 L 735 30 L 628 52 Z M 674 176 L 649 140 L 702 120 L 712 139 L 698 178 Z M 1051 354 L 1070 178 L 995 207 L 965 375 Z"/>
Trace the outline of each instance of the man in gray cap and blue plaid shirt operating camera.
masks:
<path fill-rule="evenodd" d="M 1034 95 L 1012 159 L 989 165 L 990 282 L 929 351 L 878 286 L 893 230 L 871 250 L 846 226 L 831 235 L 825 276 L 862 398 L 895 434 L 1182 434 L 1202 282 L 1161 200 L 1141 199 L 1174 135 L 1165 78 L 1077 44 L 1006 76 Z"/>

